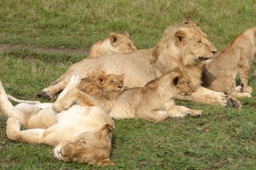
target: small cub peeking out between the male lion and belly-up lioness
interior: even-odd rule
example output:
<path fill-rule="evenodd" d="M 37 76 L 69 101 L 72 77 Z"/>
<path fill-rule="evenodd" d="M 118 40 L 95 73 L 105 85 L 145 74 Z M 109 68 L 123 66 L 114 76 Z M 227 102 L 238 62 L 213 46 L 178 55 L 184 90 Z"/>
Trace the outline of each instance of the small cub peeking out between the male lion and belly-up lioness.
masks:
<path fill-rule="evenodd" d="M 118 91 L 122 90 L 124 81 L 124 74 L 115 75 L 109 74 L 106 75 L 101 71 L 95 79 L 93 78 L 83 78 L 81 80 L 78 89 L 88 95 L 94 95 L 99 92 L 109 92 L 109 91 Z"/>

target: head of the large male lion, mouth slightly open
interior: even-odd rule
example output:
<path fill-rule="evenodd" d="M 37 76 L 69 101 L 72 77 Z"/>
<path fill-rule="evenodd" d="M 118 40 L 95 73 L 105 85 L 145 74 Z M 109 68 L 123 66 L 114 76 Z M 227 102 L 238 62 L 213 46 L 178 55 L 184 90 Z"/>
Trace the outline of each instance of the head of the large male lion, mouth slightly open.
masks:
<path fill-rule="evenodd" d="M 170 26 L 165 30 L 163 39 L 154 47 L 151 62 L 161 60 L 167 53 L 167 56 L 173 57 L 164 59 L 176 60 L 177 63 L 181 61 L 184 66 L 206 64 L 216 52 L 216 47 L 196 24 L 185 20 L 181 26 Z"/>

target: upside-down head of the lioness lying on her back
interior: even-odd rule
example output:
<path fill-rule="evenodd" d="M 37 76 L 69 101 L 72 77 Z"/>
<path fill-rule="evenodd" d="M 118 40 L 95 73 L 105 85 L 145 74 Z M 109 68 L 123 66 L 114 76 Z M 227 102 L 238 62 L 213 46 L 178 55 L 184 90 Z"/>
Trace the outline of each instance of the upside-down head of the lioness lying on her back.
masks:
<path fill-rule="evenodd" d="M 65 140 L 57 145 L 55 156 L 66 162 L 114 165 L 109 158 L 111 140 L 108 138 L 113 130 L 113 126 L 105 124 L 97 132 L 80 133 L 72 141 Z"/>

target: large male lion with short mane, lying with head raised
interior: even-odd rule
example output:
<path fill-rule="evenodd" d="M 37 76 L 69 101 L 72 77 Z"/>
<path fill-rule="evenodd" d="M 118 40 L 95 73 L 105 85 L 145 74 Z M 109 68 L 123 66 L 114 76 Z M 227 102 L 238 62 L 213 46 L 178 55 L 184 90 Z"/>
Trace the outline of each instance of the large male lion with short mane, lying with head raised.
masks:
<path fill-rule="evenodd" d="M 240 108 L 242 105 L 237 99 L 200 85 L 202 70 L 216 52 L 217 49 L 206 35 L 192 21 L 185 20 L 178 27 L 167 28 L 162 40 L 154 48 L 83 59 L 71 65 L 51 86 L 42 90 L 42 96 L 53 100 L 55 94 L 66 87 L 75 72 L 83 78 L 95 76 L 97 69 L 106 74 L 124 73 L 124 86 L 133 88 L 144 87 L 149 81 L 175 67 L 181 67 L 190 77 L 196 91 L 189 98 L 180 95 L 179 99 L 224 106 L 228 104 Z"/>

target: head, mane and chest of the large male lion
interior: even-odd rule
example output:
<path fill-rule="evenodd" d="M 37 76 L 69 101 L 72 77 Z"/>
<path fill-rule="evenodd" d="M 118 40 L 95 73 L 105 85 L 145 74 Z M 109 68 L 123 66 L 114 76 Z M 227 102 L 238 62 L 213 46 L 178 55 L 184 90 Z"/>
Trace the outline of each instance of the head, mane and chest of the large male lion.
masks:
<path fill-rule="evenodd" d="M 185 20 L 182 25 L 165 30 L 162 40 L 152 50 L 150 62 L 162 73 L 181 66 L 193 85 L 199 86 L 203 67 L 216 52 L 206 35 L 192 21 Z"/>

